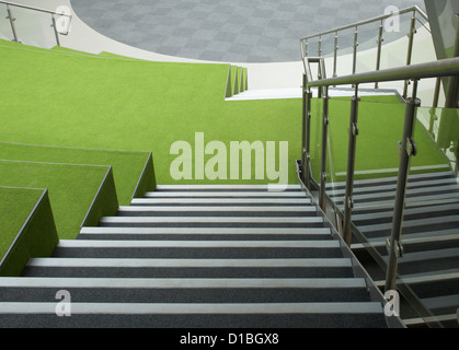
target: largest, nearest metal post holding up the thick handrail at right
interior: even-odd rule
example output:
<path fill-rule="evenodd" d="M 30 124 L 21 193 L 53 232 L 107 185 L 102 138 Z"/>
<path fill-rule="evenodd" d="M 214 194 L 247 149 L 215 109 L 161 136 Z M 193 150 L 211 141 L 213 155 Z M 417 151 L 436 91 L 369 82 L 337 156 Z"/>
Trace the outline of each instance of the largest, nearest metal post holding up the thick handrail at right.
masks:
<path fill-rule="evenodd" d="M 408 174 L 410 171 L 411 156 L 416 154 L 416 145 L 413 141 L 413 129 L 416 107 L 421 101 L 416 98 L 417 80 L 413 84 L 413 95 L 406 101 L 403 139 L 400 148 L 399 178 L 397 180 L 397 195 L 393 210 L 392 232 L 387 242 L 389 250 L 389 265 L 386 275 L 386 291 L 395 290 L 397 270 L 399 258 L 403 255 L 401 244 L 403 211 L 406 197 Z"/>

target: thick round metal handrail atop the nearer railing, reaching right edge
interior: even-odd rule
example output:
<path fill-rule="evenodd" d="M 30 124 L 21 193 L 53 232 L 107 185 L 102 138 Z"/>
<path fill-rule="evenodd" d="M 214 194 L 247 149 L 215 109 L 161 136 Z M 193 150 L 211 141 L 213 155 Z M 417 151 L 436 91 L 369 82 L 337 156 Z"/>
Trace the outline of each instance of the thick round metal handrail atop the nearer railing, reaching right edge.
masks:
<path fill-rule="evenodd" d="M 451 75 L 459 75 L 459 57 L 440 59 L 427 63 L 418 63 L 406 67 L 389 68 L 379 71 L 308 81 L 308 86 L 320 88 L 332 85 L 349 85 Z"/>

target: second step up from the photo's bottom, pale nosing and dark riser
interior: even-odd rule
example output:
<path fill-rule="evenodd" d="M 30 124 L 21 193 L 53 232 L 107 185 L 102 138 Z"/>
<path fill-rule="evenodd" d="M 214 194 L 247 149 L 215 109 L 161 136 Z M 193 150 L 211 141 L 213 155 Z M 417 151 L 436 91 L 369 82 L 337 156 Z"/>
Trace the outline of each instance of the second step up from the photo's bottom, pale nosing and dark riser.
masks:
<path fill-rule="evenodd" d="M 366 282 L 334 279 L 0 278 L 2 302 L 291 303 L 368 301 Z"/>

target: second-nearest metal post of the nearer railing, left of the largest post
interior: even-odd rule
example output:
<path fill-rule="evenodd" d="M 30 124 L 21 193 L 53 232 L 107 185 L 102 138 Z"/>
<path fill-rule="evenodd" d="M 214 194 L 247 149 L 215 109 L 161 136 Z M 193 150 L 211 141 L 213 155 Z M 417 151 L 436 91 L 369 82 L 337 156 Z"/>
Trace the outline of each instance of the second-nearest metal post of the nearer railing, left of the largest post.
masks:
<path fill-rule="evenodd" d="M 357 118 L 358 118 L 358 84 L 355 85 L 355 94 L 352 98 L 351 118 L 349 118 L 349 141 L 347 148 L 347 172 L 346 172 L 346 194 L 344 197 L 344 241 L 351 246 L 352 231 L 351 231 L 351 214 L 354 206 L 354 168 L 355 168 L 355 151 L 358 136 Z"/>

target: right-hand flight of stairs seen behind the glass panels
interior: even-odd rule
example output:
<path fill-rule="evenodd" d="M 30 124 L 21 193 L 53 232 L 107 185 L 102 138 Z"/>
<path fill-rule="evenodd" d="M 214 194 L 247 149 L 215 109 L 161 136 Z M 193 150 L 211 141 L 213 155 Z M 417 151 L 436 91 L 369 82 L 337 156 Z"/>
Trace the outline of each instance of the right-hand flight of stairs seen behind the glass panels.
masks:
<path fill-rule="evenodd" d="M 386 264 L 395 188 L 397 177 L 388 177 L 357 180 L 354 190 L 353 222 Z M 344 190 L 344 183 L 330 185 L 330 195 L 341 208 Z M 416 303 L 436 316 L 431 320 L 458 327 L 459 186 L 451 172 L 409 177 L 402 245 L 399 276 L 418 299 Z M 368 258 L 364 244 L 355 240 L 352 249 L 376 283 L 383 287 L 385 271 Z M 401 317 L 408 326 L 424 323 L 410 311 L 402 312 Z"/>

